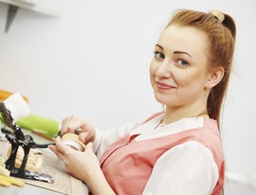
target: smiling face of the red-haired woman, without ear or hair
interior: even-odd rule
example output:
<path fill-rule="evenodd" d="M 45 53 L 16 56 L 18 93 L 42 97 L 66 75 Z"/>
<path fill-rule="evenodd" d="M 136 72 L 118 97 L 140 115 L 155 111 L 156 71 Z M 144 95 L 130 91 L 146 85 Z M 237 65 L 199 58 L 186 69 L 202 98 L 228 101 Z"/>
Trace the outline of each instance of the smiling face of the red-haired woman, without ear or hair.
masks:
<path fill-rule="evenodd" d="M 192 27 L 168 26 L 155 45 L 150 81 L 155 99 L 172 107 L 206 104 L 207 36 Z"/>

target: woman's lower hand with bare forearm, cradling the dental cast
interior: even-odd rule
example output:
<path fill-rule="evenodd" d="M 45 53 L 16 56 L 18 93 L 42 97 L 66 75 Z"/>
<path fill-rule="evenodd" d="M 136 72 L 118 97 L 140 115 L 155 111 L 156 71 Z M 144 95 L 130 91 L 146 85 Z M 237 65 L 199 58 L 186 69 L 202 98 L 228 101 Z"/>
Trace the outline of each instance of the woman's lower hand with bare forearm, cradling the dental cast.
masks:
<path fill-rule="evenodd" d="M 86 183 L 92 194 L 115 195 L 102 173 L 96 154 L 92 151 L 91 142 L 86 145 L 84 152 L 79 152 L 66 146 L 58 136 L 55 139 L 55 146 L 49 145 L 49 149 L 61 158 L 71 175 Z"/>

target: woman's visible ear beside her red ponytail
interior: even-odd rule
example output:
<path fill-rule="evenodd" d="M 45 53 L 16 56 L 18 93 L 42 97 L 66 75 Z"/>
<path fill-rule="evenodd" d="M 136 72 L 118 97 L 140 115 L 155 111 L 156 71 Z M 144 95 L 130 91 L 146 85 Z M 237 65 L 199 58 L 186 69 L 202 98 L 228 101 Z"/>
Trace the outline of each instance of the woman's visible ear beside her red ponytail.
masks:
<path fill-rule="evenodd" d="M 207 82 L 207 88 L 215 87 L 221 79 L 224 77 L 224 67 L 218 66 L 213 68 L 212 71 L 209 73 L 209 78 Z"/>

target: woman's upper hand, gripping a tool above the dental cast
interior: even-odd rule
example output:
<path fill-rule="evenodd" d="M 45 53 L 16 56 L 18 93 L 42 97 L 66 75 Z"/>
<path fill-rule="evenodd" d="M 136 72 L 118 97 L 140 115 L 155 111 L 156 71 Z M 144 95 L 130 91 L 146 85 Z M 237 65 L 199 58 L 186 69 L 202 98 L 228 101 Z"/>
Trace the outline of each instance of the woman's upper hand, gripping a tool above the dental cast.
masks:
<path fill-rule="evenodd" d="M 84 118 L 77 115 L 64 118 L 61 122 L 61 136 L 67 133 L 75 133 L 76 129 L 82 129 L 79 140 L 84 144 L 95 141 L 96 129 Z"/>

